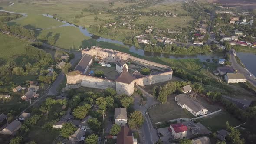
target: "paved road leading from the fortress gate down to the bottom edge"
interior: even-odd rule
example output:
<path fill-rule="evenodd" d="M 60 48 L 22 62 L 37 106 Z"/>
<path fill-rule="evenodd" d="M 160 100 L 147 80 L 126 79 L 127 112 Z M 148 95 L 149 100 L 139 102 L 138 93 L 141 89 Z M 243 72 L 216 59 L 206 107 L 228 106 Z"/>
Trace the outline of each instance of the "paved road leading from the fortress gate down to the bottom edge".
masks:
<path fill-rule="evenodd" d="M 146 113 L 146 111 L 151 105 L 158 104 L 159 101 L 157 101 L 151 95 L 146 95 L 146 97 L 147 103 L 141 107 L 139 105 L 140 97 L 135 97 L 134 109 L 141 111 L 145 118 L 145 122 L 142 125 L 142 128 L 139 130 L 141 144 L 154 144 L 156 141 L 158 141 L 159 137 L 157 135 L 157 130 L 153 128 L 149 115 Z"/>

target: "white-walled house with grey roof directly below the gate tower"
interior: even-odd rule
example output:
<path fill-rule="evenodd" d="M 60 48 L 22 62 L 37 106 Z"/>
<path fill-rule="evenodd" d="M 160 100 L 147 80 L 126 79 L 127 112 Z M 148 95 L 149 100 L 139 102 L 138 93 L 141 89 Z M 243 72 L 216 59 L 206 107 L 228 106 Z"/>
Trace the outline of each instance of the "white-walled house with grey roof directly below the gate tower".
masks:
<path fill-rule="evenodd" d="M 125 126 L 127 123 L 126 108 L 115 108 L 115 124 Z"/>

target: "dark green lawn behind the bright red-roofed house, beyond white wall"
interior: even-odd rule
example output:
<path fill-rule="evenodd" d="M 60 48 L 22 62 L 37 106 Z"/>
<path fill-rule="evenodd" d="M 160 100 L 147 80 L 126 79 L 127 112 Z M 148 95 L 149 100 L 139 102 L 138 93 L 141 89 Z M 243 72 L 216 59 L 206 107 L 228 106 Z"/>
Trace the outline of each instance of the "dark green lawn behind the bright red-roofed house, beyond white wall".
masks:
<path fill-rule="evenodd" d="M 218 131 L 220 129 L 226 129 L 226 121 L 228 121 L 231 126 L 242 124 L 242 122 L 238 121 L 236 118 L 226 113 L 225 111 L 221 111 L 216 115 L 209 116 L 207 118 L 197 119 L 197 122 L 200 122 L 206 128 L 209 128 L 209 130 L 212 132 Z"/>

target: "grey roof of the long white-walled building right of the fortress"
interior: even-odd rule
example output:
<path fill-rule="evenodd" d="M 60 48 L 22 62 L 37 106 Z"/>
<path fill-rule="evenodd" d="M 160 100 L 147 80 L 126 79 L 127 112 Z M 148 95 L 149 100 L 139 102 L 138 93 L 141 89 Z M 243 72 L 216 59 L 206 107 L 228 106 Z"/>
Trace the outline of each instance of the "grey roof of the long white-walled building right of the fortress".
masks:
<path fill-rule="evenodd" d="M 202 109 L 206 109 L 198 102 L 196 102 L 194 99 L 190 98 L 185 94 L 177 95 L 175 98 L 178 98 L 178 103 L 180 103 L 181 105 L 187 105 L 190 109 L 192 109 L 195 112 L 201 111 Z"/>

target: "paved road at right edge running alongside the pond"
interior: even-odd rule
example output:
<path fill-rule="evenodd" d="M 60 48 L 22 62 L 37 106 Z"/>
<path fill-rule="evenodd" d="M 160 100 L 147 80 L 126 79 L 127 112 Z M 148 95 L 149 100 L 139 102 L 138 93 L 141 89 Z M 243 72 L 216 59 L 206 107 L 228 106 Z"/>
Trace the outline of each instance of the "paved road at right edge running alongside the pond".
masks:
<path fill-rule="evenodd" d="M 250 81 L 256 87 L 256 79 L 253 76 L 249 75 L 249 72 L 246 71 L 240 64 L 237 63 L 235 56 L 233 55 L 232 49 L 230 49 L 230 62 L 232 63 L 234 69 L 237 70 L 238 73 L 243 73 L 248 81 Z"/>

